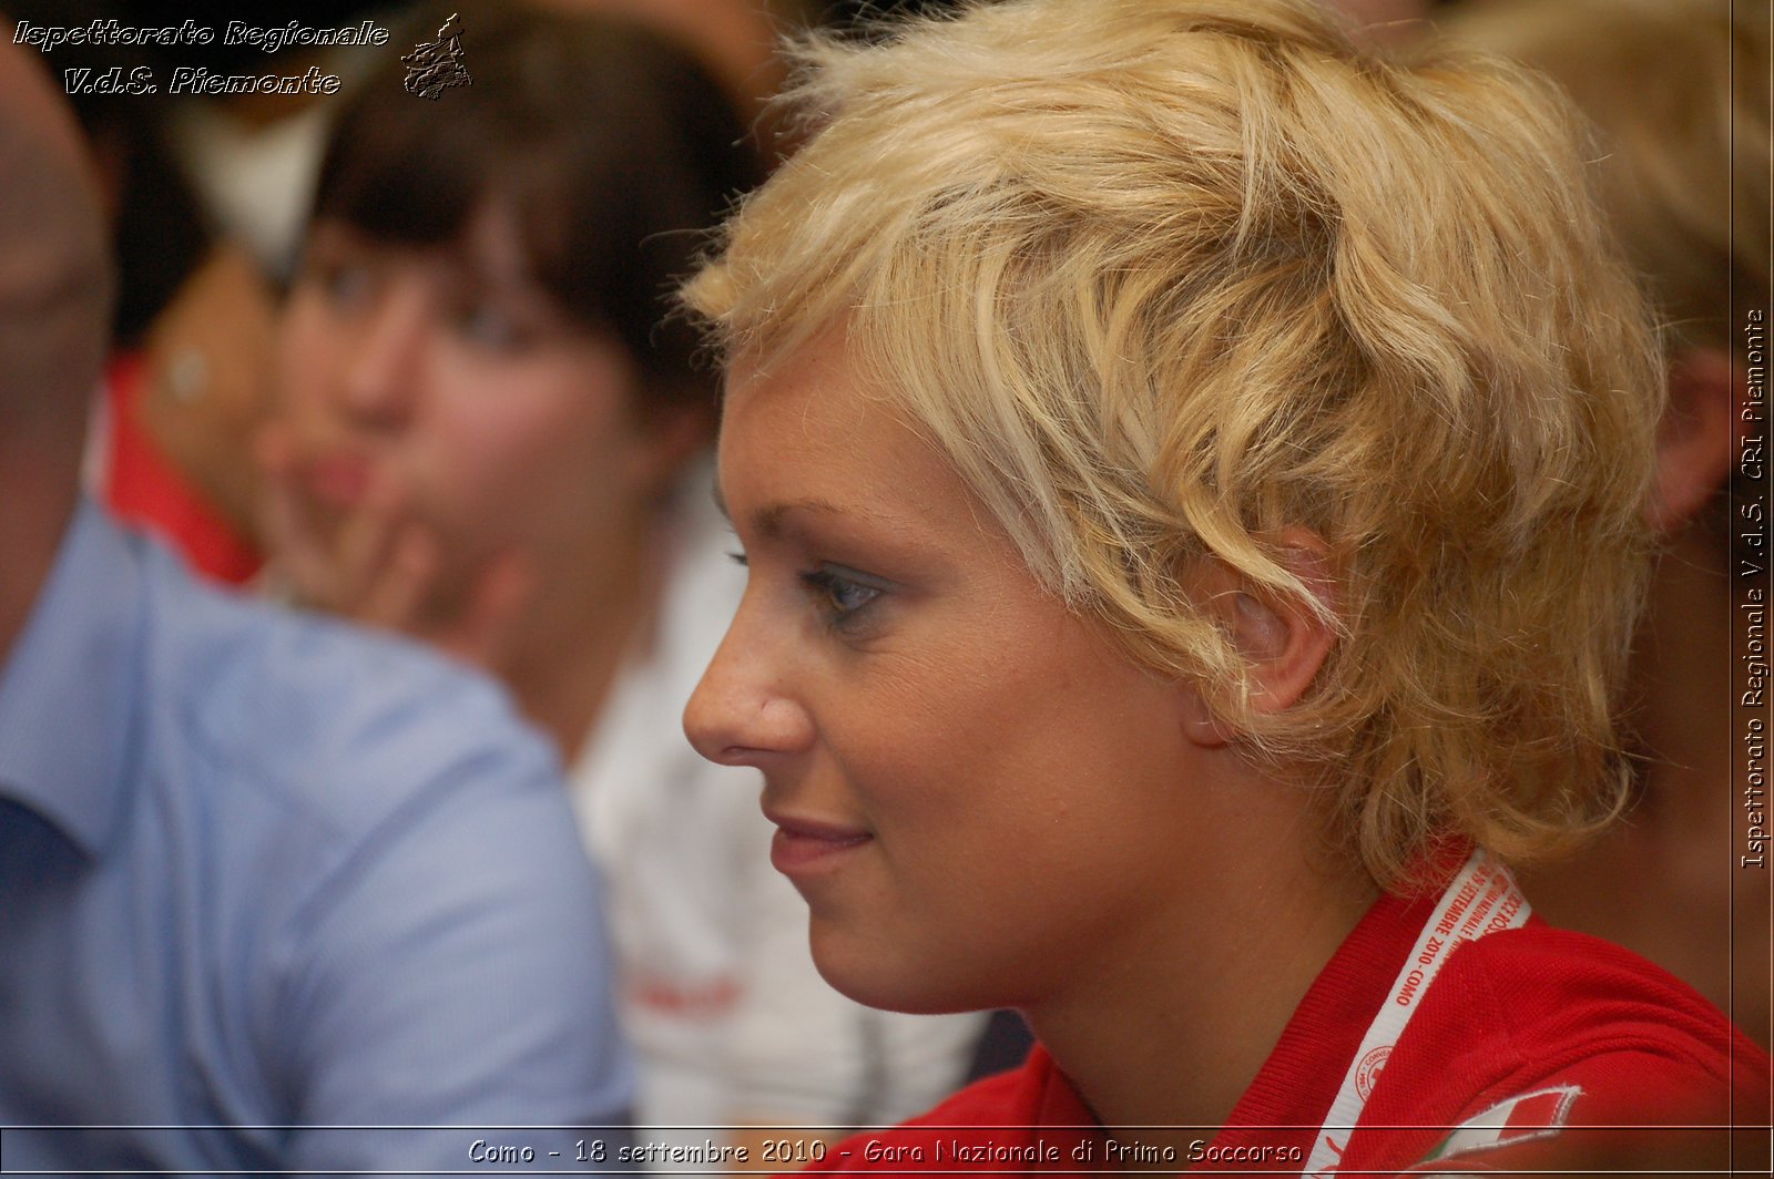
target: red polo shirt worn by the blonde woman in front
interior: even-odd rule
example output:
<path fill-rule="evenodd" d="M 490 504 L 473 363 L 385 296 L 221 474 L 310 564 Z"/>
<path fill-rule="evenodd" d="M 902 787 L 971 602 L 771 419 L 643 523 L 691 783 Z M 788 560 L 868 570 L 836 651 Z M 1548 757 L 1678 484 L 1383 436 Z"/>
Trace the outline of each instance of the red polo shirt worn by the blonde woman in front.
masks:
<path fill-rule="evenodd" d="M 1226 1119 L 1167 1167 L 1299 1172 L 1393 982 L 1437 904 L 1382 897 L 1313 982 Z M 1769 1057 L 1673 975 L 1531 918 L 1448 957 L 1403 1035 L 1364 1069 L 1343 1172 L 1405 1170 L 1582 1126 L 1767 1124 Z M 1630 1133 L 1630 1131 L 1627 1131 Z M 1128 1163 L 1040 1046 L 896 1129 L 862 1133 L 811 1170 L 1089 1172 Z"/>

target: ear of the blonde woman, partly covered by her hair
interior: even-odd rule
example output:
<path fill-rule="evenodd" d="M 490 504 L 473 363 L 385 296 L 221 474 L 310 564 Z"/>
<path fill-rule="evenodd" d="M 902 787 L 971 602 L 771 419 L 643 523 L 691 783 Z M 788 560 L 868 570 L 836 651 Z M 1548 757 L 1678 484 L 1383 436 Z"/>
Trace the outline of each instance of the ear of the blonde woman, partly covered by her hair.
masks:
<path fill-rule="evenodd" d="M 1306 585 L 1318 608 L 1254 587 L 1219 560 L 1210 560 L 1197 582 L 1208 615 L 1245 661 L 1251 707 L 1258 713 L 1279 713 L 1306 695 L 1336 642 L 1336 629 L 1325 619 L 1336 610 L 1329 546 L 1311 528 L 1291 527 L 1276 537 L 1276 548 L 1283 567 Z M 1226 745 L 1235 736 L 1194 688 L 1185 691 L 1183 725 L 1203 746 Z"/>

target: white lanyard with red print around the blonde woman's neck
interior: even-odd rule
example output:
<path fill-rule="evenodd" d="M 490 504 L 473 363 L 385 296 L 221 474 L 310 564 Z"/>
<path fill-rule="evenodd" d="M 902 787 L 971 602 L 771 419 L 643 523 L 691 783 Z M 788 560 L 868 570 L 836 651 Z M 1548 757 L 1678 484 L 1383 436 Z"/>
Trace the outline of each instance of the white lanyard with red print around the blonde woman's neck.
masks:
<path fill-rule="evenodd" d="M 1313 1152 L 1306 1159 L 1306 1179 L 1320 1179 L 1336 1170 L 1343 1154 L 1343 1142 L 1348 1131 L 1361 1120 L 1361 1112 L 1368 1105 L 1368 1094 L 1380 1078 L 1385 1058 L 1393 1053 L 1393 1044 L 1403 1035 L 1410 1016 L 1417 1012 L 1425 991 L 1435 982 L 1442 963 L 1464 943 L 1483 938 L 1499 929 L 1519 929 L 1527 924 L 1527 899 L 1510 879 L 1508 869 L 1492 860 L 1485 851 L 1474 851 L 1465 867 L 1453 878 L 1440 902 L 1430 911 L 1430 918 L 1417 934 L 1417 943 L 1400 966 L 1393 988 L 1387 991 L 1380 1012 L 1373 1018 L 1368 1035 L 1362 1037 L 1355 1058 L 1350 1060 L 1343 1087 L 1338 1089 L 1330 1112 L 1325 1115 L 1323 1131 L 1313 1144 Z M 1330 1131 L 1343 1131 L 1343 1142 L 1330 1138 Z"/>

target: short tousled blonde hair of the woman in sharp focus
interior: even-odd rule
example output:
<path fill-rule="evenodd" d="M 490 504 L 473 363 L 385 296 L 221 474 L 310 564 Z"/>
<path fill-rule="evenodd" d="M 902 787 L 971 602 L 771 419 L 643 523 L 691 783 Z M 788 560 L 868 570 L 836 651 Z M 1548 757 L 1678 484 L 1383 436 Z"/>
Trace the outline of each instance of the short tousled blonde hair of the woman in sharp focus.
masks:
<path fill-rule="evenodd" d="M 1662 365 L 1549 87 L 1283 0 L 1008 0 L 800 64 L 823 126 L 685 291 L 729 356 L 841 324 L 1043 585 L 1323 768 L 1382 885 L 1618 808 Z M 1293 707 L 1249 706 L 1203 558 L 1338 628 Z"/>

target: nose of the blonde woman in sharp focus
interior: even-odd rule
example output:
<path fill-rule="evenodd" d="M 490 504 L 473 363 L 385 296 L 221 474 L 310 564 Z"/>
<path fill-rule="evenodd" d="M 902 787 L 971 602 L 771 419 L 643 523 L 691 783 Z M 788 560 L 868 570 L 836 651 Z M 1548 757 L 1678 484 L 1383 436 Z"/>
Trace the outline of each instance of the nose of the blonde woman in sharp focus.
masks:
<path fill-rule="evenodd" d="M 807 750 L 816 725 L 789 684 L 789 665 L 754 633 L 745 606 L 683 709 L 695 752 L 724 766 L 765 766 Z"/>

